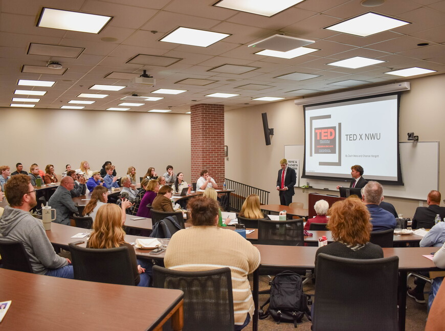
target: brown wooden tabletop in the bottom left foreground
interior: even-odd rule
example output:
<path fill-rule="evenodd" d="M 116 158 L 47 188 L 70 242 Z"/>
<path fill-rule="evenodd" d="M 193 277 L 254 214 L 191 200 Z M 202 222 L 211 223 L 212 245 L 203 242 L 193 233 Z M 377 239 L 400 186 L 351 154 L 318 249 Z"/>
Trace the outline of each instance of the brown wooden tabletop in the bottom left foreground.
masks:
<path fill-rule="evenodd" d="M 181 290 L 141 288 L 0 269 L 0 298 L 12 300 L 2 330 L 162 330 L 183 327 Z"/>

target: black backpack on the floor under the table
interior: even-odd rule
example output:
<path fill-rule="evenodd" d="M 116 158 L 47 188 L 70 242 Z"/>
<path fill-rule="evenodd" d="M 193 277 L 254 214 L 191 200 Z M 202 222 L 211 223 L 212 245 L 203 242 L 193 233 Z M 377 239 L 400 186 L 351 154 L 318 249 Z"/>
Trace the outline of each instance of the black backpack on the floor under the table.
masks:
<path fill-rule="evenodd" d="M 303 293 L 301 276 L 293 271 L 283 271 L 272 280 L 271 296 L 260 307 L 259 319 L 265 319 L 271 315 L 277 324 L 293 322 L 297 327 L 297 322 L 300 322 L 304 315 L 310 321 L 307 297 Z M 269 302 L 269 308 L 264 312 L 263 307 Z"/>

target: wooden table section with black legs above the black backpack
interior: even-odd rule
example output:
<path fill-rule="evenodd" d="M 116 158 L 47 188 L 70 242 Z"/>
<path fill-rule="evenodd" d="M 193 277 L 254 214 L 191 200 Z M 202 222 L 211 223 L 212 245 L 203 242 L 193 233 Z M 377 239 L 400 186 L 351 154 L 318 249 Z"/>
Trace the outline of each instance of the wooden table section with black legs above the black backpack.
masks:
<path fill-rule="evenodd" d="M 255 245 L 261 254 L 260 267 L 266 268 L 301 268 L 306 270 L 315 269 L 315 253 L 318 247 L 304 246 L 274 246 Z M 405 330 L 406 318 L 406 277 L 408 271 L 432 271 L 440 270 L 434 266 L 433 261 L 422 255 L 435 252 L 439 247 L 393 247 L 383 248 L 384 257 L 398 256 L 398 270 L 400 273 L 398 284 L 399 310 L 398 325 L 399 330 Z M 258 285 L 259 268 L 255 270 L 253 277 L 253 300 L 255 313 L 253 317 L 252 330 L 258 330 Z M 316 294 L 317 295 L 317 294 Z"/>

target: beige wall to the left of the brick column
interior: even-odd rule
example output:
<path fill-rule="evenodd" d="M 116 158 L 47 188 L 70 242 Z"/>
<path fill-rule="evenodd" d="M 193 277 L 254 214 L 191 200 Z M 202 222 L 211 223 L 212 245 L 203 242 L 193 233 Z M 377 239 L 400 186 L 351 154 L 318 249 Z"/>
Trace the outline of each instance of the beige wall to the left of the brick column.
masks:
<path fill-rule="evenodd" d="M 0 163 L 12 171 L 17 162 L 26 171 L 35 162 L 43 171 L 54 164 L 60 174 L 67 163 L 78 169 L 82 160 L 100 170 L 109 160 L 120 176 L 129 166 L 136 168 L 138 178 L 150 166 L 162 175 L 171 164 L 190 181 L 189 115 L 31 108 L 0 112 Z"/>

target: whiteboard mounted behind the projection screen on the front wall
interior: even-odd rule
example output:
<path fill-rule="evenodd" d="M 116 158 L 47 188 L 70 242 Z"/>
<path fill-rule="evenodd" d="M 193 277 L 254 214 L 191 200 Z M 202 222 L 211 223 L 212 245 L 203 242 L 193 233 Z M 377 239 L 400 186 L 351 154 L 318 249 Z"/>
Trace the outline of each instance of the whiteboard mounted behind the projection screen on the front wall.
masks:
<path fill-rule="evenodd" d="M 400 167 L 404 185 L 384 185 L 385 196 L 426 200 L 431 190 L 439 189 L 439 142 L 399 143 Z M 284 158 L 300 160 L 299 178 L 303 172 L 304 146 L 284 145 Z M 366 169 L 365 174 L 366 177 Z M 349 186 L 351 180 L 315 180 L 303 178 L 300 185 L 337 191 L 337 185 Z M 337 191 L 338 192 L 338 191 Z M 332 192 L 326 192 L 332 194 Z"/>

